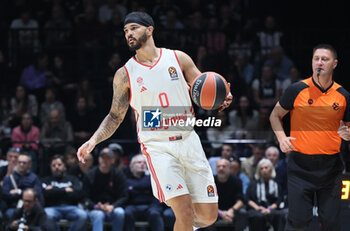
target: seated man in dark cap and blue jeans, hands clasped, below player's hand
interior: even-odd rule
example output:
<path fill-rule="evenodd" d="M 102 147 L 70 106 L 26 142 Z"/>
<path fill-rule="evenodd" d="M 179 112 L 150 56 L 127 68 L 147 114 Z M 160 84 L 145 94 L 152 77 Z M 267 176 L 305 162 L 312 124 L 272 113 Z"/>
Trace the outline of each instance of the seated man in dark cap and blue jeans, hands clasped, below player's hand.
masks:
<path fill-rule="evenodd" d="M 114 153 L 109 148 L 100 151 L 98 166 L 86 174 L 85 204 L 90 209 L 92 230 L 103 230 L 105 220 L 112 222 L 113 231 L 122 231 L 125 212 L 122 206 L 128 199 L 126 177 L 114 167 Z"/>

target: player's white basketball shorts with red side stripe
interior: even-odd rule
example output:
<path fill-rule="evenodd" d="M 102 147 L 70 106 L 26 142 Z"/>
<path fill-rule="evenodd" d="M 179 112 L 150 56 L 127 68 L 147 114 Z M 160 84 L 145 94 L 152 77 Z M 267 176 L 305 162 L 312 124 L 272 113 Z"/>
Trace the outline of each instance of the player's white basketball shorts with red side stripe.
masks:
<path fill-rule="evenodd" d="M 142 146 L 153 194 L 160 202 L 185 194 L 193 203 L 218 202 L 213 173 L 194 131 L 181 139 L 165 137 Z"/>

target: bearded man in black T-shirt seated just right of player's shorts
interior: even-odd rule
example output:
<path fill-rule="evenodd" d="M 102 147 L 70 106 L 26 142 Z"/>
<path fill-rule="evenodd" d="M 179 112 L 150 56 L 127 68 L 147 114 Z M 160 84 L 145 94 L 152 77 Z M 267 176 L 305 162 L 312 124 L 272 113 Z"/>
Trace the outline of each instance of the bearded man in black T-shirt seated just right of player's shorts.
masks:
<path fill-rule="evenodd" d="M 230 173 L 230 162 L 227 159 L 220 159 L 216 162 L 215 184 L 219 195 L 219 220 L 228 223 L 235 223 L 235 230 L 243 230 L 238 222 L 244 218 L 239 215 L 243 207 L 242 182 Z M 206 231 L 216 230 L 215 225 L 205 229 Z"/>

